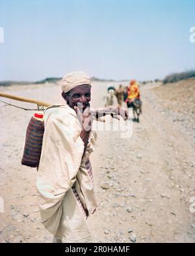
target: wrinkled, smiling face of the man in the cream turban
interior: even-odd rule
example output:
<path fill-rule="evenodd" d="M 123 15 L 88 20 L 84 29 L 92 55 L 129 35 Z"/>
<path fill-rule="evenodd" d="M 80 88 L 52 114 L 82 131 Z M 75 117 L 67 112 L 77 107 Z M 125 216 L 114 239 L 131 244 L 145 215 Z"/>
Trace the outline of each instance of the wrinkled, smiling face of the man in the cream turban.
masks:
<path fill-rule="evenodd" d="M 89 106 L 91 100 L 91 87 L 88 84 L 77 86 L 71 91 L 68 91 L 68 93 L 62 92 L 62 97 L 67 101 L 71 108 L 74 106 L 81 106 L 84 111 L 85 108 Z"/>

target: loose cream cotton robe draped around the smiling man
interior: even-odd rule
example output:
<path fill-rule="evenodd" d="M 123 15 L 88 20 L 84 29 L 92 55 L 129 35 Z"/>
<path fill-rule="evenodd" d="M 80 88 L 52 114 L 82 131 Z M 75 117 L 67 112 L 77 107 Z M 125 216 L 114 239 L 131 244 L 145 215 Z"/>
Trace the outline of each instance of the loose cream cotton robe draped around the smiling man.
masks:
<path fill-rule="evenodd" d="M 86 217 L 72 186 L 88 210 L 96 210 L 94 186 L 85 162 L 94 151 L 96 133 L 91 131 L 84 157 L 81 125 L 75 110 L 63 105 L 49 108 L 44 116 L 44 138 L 36 178 L 42 224 L 62 242 L 92 242 Z"/>

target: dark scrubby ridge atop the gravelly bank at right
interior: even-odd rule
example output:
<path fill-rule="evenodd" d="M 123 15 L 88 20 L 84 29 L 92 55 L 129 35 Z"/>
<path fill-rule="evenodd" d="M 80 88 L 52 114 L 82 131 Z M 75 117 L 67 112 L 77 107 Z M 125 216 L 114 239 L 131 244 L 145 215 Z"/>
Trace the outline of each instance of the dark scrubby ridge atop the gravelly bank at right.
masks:
<path fill-rule="evenodd" d="M 164 80 L 162 80 L 162 84 L 174 83 L 174 82 L 178 82 L 180 80 L 186 80 L 192 77 L 195 77 L 195 70 L 181 72 L 181 73 L 173 73 L 166 76 Z"/>

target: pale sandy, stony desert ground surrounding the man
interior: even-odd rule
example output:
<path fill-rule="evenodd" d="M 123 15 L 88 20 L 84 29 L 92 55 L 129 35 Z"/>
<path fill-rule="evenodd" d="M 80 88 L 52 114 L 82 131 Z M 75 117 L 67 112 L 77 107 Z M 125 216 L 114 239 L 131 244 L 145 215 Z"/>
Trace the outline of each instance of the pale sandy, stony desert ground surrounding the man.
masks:
<path fill-rule="evenodd" d="M 143 114 L 140 123 L 133 123 L 131 138 L 122 138 L 120 131 L 98 131 L 91 157 L 98 210 L 88 220 L 95 242 L 195 242 L 195 213 L 189 210 L 195 197 L 195 81 L 187 83 L 187 94 L 183 82 L 142 86 Z M 108 85 L 94 83 L 92 106 L 103 107 Z M 53 84 L 0 91 L 63 102 Z M 52 240 L 40 223 L 36 169 L 21 166 L 31 115 L 12 106 L 0 108 L 0 242 Z"/>

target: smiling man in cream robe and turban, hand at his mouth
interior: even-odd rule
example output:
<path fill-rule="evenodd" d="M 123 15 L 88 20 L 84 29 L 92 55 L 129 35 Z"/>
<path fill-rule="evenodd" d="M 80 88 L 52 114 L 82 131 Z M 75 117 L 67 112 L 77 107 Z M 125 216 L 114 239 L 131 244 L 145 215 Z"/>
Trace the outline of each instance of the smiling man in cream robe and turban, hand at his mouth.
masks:
<path fill-rule="evenodd" d="M 41 221 L 53 234 L 53 242 L 92 242 L 86 223 L 97 206 L 89 161 L 96 141 L 90 88 L 84 72 L 67 74 L 62 78 L 67 104 L 45 110 L 36 187 Z"/>

